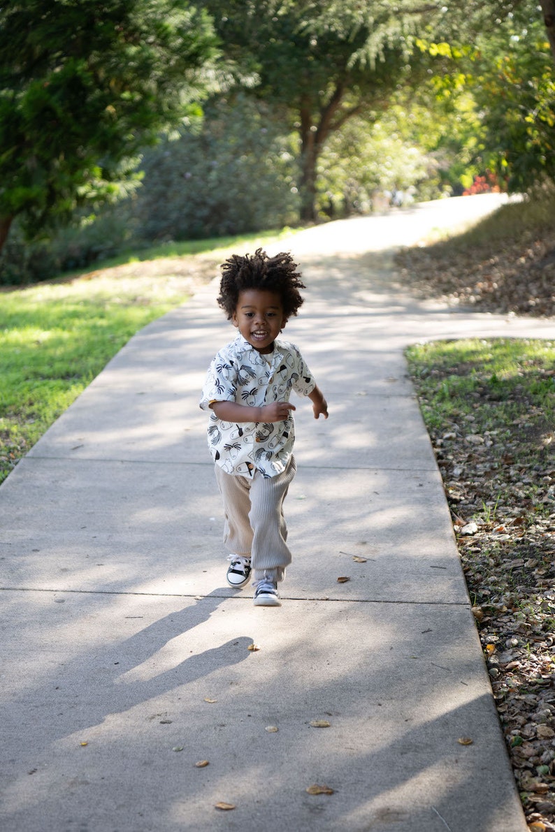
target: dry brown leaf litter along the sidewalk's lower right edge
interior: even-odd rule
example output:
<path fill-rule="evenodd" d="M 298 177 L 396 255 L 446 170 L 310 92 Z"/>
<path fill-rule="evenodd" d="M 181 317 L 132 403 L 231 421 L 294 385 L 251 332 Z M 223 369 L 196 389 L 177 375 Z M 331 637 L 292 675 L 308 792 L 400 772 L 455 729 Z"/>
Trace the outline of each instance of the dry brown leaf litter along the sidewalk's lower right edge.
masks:
<path fill-rule="evenodd" d="M 495 341 L 481 343 L 493 347 Z M 553 349 L 553 343 L 543 343 Z M 513 387 L 478 364 L 446 367 L 444 358 L 427 359 L 427 378 L 419 374 L 418 359 L 411 372 L 444 480 L 523 809 L 531 829 L 553 832 L 555 441 L 553 412 L 533 392 L 546 379 L 555 384 L 555 375 L 553 365 L 527 359 L 532 342 L 522 344 L 519 384 Z M 436 395 L 443 390 L 452 398 L 453 374 L 474 376 L 470 412 L 458 410 L 456 400 L 454 409 L 439 414 Z M 468 442 L 469 436 L 483 441 Z"/>

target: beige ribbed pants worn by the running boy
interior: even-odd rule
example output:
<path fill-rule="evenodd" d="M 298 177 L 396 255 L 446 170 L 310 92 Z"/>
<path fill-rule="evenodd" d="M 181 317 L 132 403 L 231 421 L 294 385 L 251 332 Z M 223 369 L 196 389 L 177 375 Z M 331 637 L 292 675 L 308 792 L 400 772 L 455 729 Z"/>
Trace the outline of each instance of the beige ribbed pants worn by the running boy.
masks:
<path fill-rule="evenodd" d="M 275 477 L 263 477 L 258 471 L 252 478 L 237 476 L 216 465 L 225 511 L 224 543 L 230 552 L 250 557 L 254 581 L 263 577 L 283 581 L 291 562 L 283 501 L 296 470 L 293 457 Z"/>

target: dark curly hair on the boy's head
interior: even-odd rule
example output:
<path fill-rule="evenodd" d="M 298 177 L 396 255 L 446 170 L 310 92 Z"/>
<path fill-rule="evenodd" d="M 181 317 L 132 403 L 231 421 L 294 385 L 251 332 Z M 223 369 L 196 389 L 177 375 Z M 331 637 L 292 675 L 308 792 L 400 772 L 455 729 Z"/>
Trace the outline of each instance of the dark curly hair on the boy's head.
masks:
<path fill-rule="evenodd" d="M 275 292 L 280 295 L 285 319 L 289 319 L 303 304 L 299 290 L 306 288 L 296 268 L 291 255 L 284 251 L 274 257 L 269 257 L 262 249 L 256 249 L 254 255 L 232 255 L 221 265 L 218 303 L 231 319 L 240 292 L 249 289 Z"/>

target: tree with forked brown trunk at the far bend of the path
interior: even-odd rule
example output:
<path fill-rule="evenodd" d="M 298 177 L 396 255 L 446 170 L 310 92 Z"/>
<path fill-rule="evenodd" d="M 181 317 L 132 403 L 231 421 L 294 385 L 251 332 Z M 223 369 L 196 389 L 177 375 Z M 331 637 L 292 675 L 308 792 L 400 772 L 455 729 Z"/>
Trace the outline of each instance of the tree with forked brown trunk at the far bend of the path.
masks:
<path fill-rule="evenodd" d="M 434 2 L 209 0 L 225 56 L 240 83 L 283 112 L 299 136 L 301 219 L 315 219 L 316 171 L 325 142 L 351 117 L 384 111 L 399 85 L 424 72 L 410 33 Z M 421 8 L 424 6 L 424 8 Z M 412 56 L 412 57 L 411 57 Z M 426 57 L 429 62 L 429 56 Z"/>

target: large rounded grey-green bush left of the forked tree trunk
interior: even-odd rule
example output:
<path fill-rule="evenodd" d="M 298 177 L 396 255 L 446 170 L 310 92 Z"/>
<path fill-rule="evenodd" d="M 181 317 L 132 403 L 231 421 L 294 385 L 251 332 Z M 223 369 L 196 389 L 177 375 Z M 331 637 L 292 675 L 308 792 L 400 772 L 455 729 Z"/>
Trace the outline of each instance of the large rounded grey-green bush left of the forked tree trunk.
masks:
<path fill-rule="evenodd" d="M 147 152 L 131 201 L 143 240 L 191 240 L 294 223 L 290 136 L 264 102 L 243 95 L 206 106 L 201 131 Z"/>

